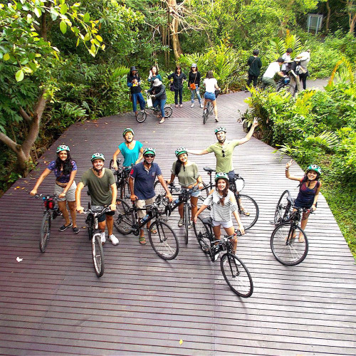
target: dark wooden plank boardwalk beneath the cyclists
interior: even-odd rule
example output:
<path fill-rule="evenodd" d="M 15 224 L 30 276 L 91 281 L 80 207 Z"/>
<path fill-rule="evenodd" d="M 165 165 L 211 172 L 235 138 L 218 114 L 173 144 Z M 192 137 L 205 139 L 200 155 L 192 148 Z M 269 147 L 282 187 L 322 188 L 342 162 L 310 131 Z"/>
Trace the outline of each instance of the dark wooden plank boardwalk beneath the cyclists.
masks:
<path fill-rule="evenodd" d="M 236 122 L 245 93 L 219 97 L 219 124 L 228 138 L 244 137 Z M 271 253 L 273 211 L 284 189 L 297 184 L 284 177 L 286 159 L 261 141 L 236 147 L 234 167 L 246 179 L 244 193 L 258 202 L 256 225 L 239 239 L 238 251 L 253 277 L 251 298 L 238 298 L 221 278 L 219 263 L 208 261 L 192 231 L 174 261 L 163 261 L 150 244 L 117 236 L 105 244 L 106 269 L 98 279 L 85 229 L 60 233 L 54 221 L 46 253 L 38 249 L 42 208 L 26 194 L 55 157 L 70 146 L 79 177 L 100 151 L 109 162 L 121 132 L 133 127 L 145 146 L 157 148 L 156 162 L 169 177 L 179 146 L 204 149 L 214 142 L 214 119 L 206 125 L 201 109 L 174 108 L 164 125 L 149 116 L 138 124 L 131 113 L 70 127 L 26 179 L 0 199 L 0 354 L 1 355 L 355 355 L 356 268 L 323 197 L 306 229 L 309 253 L 299 266 L 286 267 Z M 201 168 L 214 167 L 214 155 L 190 156 Z M 293 165 L 293 174 L 302 174 Z M 51 177 L 51 176 L 50 176 Z M 39 192 L 51 193 L 47 178 Z M 19 188 L 16 188 L 19 187 Z M 22 189 L 25 188 L 25 189 Z M 79 216 L 85 226 L 85 216 Z M 173 224 L 173 222 L 172 222 Z M 23 258 L 21 262 L 16 258 Z M 179 340 L 183 342 L 180 343 Z"/>

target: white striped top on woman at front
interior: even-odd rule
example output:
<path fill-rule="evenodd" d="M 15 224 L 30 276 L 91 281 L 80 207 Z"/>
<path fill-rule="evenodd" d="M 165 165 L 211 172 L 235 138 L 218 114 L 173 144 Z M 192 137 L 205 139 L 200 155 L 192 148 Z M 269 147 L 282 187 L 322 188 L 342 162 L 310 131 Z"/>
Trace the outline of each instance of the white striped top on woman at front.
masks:
<path fill-rule="evenodd" d="M 215 221 L 229 221 L 231 220 L 231 213 L 237 210 L 237 204 L 233 203 L 230 200 L 230 197 L 233 196 L 233 192 L 228 190 L 227 196 L 224 198 L 224 205 L 220 204 L 221 195 L 216 192 L 212 192 L 208 197 L 204 200 L 203 204 L 206 206 L 211 205 L 210 216 Z"/>

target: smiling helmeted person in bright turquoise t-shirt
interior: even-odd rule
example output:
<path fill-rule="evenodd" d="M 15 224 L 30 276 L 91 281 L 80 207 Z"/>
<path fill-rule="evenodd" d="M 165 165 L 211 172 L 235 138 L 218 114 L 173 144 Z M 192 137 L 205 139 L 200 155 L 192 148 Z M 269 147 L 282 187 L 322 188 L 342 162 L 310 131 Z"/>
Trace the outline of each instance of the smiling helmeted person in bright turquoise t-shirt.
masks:
<path fill-rule="evenodd" d="M 122 167 L 124 169 L 130 167 L 134 164 L 137 164 L 142 159 L 142 143 L 140 141 L 134 140 L 135 132 L 132 128 L 127 127 L 125 130 L 122 131 L 122 136 L 124 137 L 125 142 L 120 143 L 119 148 L 115 151 L 112 159 L 114 161 L 114 168 L 117 170 L 117 155 L 122 153 L 124 156 L 124 162 L 122 163 Z M 139 157 L 139 154 L 140 157 Z"/>

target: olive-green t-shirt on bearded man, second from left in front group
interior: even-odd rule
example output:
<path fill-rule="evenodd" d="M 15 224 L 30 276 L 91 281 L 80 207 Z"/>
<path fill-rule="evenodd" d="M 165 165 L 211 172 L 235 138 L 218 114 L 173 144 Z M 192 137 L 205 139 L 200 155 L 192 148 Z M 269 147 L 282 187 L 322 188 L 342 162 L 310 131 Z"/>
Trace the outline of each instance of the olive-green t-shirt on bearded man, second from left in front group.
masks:
<path fill-rule="evenodd" d="M 93 169 L 90 168 L 83 173 L 80 179 L 84 186 L 88 186 L 93 205 L 110 205 L 112 201 L 110 186 L 115 184 L 115 177 L 110 169 L 103 169 L 104 175 L 101 178 L 96 176 Z"/>

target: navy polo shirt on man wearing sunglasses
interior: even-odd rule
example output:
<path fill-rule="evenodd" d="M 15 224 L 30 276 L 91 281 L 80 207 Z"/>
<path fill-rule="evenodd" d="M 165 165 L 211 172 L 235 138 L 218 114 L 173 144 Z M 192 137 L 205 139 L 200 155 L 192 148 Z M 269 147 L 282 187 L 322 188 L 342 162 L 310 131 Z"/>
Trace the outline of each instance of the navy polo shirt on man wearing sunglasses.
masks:
<path fill-rule="evenodd" d="M 157 163 L 152 163 L 149 170 L 145 168 L 143 162 L 136 164 L 132 167 L 130 176 L 135 179 L 134 193 L 140 200 L 147 200 L 155 197 L 155 184 L 156 177 L 160 176 L 161 169 Z"/>

